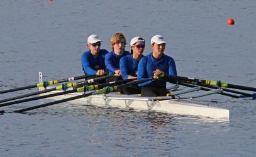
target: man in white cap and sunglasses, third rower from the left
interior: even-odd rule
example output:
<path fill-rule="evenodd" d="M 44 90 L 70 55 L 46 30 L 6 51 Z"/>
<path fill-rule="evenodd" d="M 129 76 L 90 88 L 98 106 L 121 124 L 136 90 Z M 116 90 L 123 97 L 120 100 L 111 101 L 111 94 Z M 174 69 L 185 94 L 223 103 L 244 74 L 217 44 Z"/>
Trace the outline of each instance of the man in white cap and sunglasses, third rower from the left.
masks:
<path fill-rule="evenodd" d="M 139 36 L 135 36 L 131 39 L 131 55 L 126 55 L 120 59 L 120 70 L 121 76 L 124 80 L 137 78 L 138 63 L 142 57 L 145 40 Z M 131 87 L 126 87 L 121 89 L 121 94 L 140 94 L 141 87 L 138 85 L 133 85 Z"/>

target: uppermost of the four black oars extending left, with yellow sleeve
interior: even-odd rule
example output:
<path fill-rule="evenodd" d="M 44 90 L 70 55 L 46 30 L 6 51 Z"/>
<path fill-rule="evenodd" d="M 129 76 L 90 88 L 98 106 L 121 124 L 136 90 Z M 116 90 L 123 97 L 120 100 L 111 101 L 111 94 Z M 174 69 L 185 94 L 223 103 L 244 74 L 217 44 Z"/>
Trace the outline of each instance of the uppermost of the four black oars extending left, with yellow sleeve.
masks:
<path fill-rule="evenodd" d="M 79 76 L 79 77 L 69 77 L 69 78 L 64 78 L 64 79 L 61 79 L 61 80 L 50 80 L 50 81 L 45 81 L 43 83 L 38 83 L 38 84 L 35 84 L 35 85 L 27 85 L 27 86 L 24 86 L 24 87 L 17 87 L 17 88 L 14 88 L 14 89 L 2 90 L 2 91 L 0 91 L 0 94 L 15 92 L 15 91 L 24 90 L 24 89 L 32 89 L 32 88 L 35 88 L 35 87 L 38 87 L 38 88 L 39 87 L 47 87 L 48 85 L 60 84 L 60 83 L 64 83 L 64 82 L 69 82 L 71 80 L 81 80 L 83 78 L 94 77 L 94 76 L 96 76 L 96 75 L 82 75 L 82 76 Z"/>

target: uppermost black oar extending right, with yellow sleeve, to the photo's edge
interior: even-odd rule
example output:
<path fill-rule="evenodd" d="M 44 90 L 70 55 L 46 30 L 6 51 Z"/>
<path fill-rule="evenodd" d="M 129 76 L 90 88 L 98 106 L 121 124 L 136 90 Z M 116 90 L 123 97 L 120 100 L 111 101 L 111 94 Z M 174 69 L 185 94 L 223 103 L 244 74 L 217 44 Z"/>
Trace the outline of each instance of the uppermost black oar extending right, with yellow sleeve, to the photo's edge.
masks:
<path fill-rule="evenodd" d="M 199 82 L 199 83 L 203 83 L 206 85 L 212 85 L 212 86 L 217 86 L 217 87 L 226 87 L 226 88 L 230 88 L 230 89 L 249 90 L 249 91 L 256 92 L 255 87 L 247 87 L 247 86 L 242 86 L 242 85 L 228 84 L 225 82 L 221 82 L 219 80 L 199 80 L 198 78 L 181 77 L 181 76 L 166 75 L 166 74 L 164 77 L 170 78 L 170 79 Z"/>

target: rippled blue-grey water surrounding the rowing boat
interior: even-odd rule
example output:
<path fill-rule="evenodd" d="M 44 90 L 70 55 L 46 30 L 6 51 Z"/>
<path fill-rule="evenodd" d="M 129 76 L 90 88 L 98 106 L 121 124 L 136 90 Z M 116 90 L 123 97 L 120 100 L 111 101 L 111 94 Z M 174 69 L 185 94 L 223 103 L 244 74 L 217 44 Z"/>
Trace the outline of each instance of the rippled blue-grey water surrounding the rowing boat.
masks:
<path fill-rule="evenodd" d="M 87 36 L 167 38 L 179 75 L 256 87 L 255 1 L 0 1 L 0 89 L 82 75 Z M 235 19 L 234 26 L 226 20 Z M 129 50 L 129 45 L 126 46 Z M 1 99 L 36 89 L 2 94 Z M 0 115 L 1 156 L 254 156 L 256 103 L 211 95 L 230 121 L 58 104 Z M 13 111 L 48 102 L 1 107 Z"/>

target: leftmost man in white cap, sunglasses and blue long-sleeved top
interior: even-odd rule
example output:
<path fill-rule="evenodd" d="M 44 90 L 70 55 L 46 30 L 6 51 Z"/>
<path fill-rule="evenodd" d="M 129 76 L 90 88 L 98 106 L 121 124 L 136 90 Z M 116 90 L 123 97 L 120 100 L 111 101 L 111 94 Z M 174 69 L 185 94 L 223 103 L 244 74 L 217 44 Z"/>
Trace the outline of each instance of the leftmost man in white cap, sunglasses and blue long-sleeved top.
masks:
<path fill-rule="evenodd" d="M 106 72 L 104 56 L 108 51 L 101 49 L 101 42 L 97 35 L 90 35 L 87 39 L 87 48 L 90 50 L 82 54 L 81 61 L 84 73 L 88 75 L 104 75 Z"/>

